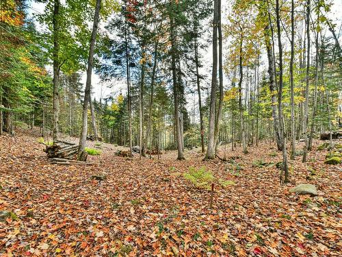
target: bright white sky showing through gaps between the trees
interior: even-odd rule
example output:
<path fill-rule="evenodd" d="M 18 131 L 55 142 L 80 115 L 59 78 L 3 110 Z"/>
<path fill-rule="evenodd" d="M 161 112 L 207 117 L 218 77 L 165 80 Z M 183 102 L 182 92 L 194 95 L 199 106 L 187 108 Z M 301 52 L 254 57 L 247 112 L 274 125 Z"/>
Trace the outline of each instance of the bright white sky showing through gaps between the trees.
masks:
<path fill-rule="evenodd" d="M 30 0 L 28 1 L 28 16 L 33 17 L 34 14 L 42 13 L 44 12 L 44 3 L 37 3 L 36 1 Z M 61 0 L 61 3 L 64 4 L 65 0 Z M 228 10 L 228 0 L 222 1 L 222 17 L 223 17 L 223 23 L 226 19 L 224 17 L 227 16 L 229 10 Z M 333 6 L 330 14 L 328 15 L 330 19 L 332 19 L 333 23 L 337 24 L 337 27 L 335 28 L 337 34 L 342 34 L 341 31 L 341 25 L 342 25 L 342 0 L 332 0 Z M 41 27 L 41 25 L 36 22 L 36 27 L 38 30 L 44 29 L 44 27 Z M 102 26 L 103 27 L 103 26 Z M 342 37 L 341 37 L 342 38 Z M 212 53 L 211 53 L 211 46 L 209 46 L 207 49 L 204 49 L 202 52 L 203 56 L 203 63 L 205 63 L 205 66 L 202 68 L 202 73 L 205 73 L 207 75 L 207 81 L 205 84 L 210 83 L 210 75 L 211 75 L 211 62 L 212 62 Z M 47 70 L 49 73 L 52 74 L 51 66 L 47 66 Z M 82 79 L 81 83 L 83 85 L 86 84 L 86 71 L 83 71 L 82 73 Z M 228 82 L 227 79 L 224 79 L 224 82 Z M 111 88 L 109 88 L 109 86 Z M 108 95 L 118 95 L 120 93 L 125 93 L 126 91 L 126 84 L 124 81 L 113 81 L 113 82 L 101 82 L 101 79 L 96 75 L 93 71 L 92 73 L 92 97 L 95 97 L 97 100 L 103 97 L 107 97 Z M 194 97 L 189 96 L 189 106 L 193 106 Z"/>

